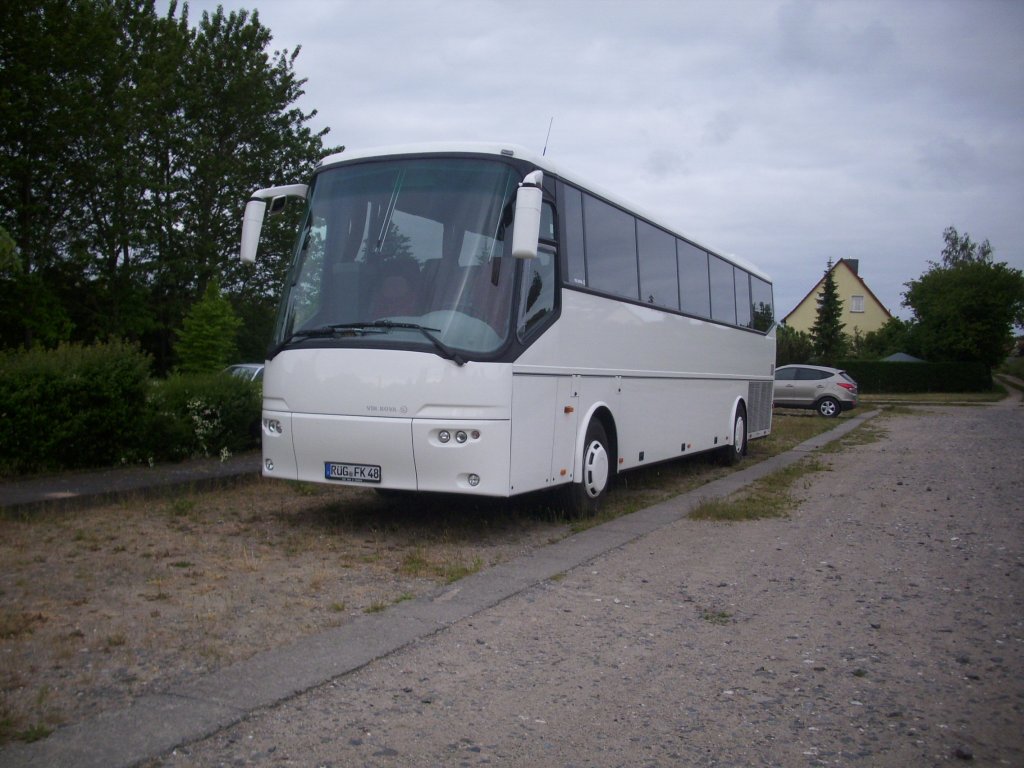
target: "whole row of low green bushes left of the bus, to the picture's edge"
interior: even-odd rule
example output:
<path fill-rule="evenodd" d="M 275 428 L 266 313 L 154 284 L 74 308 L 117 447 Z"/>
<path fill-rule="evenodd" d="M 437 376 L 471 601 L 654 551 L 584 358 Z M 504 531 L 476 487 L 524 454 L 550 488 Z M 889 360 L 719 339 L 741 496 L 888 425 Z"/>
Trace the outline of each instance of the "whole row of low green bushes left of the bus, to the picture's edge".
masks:
<path fill-rule="evenodd" d="M 0 473 L 225 456 L 259 445 L 260 386 L 150 378 L 121 342 L 0 352 Z"/>

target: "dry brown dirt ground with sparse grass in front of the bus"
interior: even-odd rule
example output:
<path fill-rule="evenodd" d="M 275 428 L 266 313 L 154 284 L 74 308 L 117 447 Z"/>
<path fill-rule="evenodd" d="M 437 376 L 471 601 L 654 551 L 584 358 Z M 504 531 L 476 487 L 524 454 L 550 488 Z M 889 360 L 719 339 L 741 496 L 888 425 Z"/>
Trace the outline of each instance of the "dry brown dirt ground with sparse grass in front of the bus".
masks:
<path fill-rule="evenodd" d="M 0 519 L 0 742 L 126 706 L 566 535 L 547 505 L 254 480 Z"/>

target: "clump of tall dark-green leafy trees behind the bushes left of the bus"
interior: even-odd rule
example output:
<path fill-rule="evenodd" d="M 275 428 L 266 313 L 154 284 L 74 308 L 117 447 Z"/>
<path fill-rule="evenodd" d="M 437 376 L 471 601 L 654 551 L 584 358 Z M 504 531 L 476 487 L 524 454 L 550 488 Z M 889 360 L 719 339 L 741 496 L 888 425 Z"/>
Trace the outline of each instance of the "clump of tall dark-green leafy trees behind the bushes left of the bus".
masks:
<path fill-rule="evenodd" d="M 75 340 L 140 339 L 166 371 L 215 276 L 265 337 L 298 207 L 268 222 L 255 267 L 234 258 L 242 208 L 331 152 L 296 106 L 298 49 L 270 41 L 256 12 L 191 26 L 174 0 L 163 15 L 156 0 L 0 3 L 0 225 L 24 295 Z M 53 338 L 26 326 L 16 343 Z"/>

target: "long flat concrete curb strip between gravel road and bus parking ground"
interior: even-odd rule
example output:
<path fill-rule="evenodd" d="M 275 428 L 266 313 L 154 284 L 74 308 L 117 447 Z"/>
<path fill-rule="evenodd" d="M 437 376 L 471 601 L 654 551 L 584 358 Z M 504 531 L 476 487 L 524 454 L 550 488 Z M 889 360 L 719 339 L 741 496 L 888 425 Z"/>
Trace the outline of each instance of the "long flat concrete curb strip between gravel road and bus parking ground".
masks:
<path fill-rule="evenodd" d="M 302 638 L 172 687 L 124 710 L 60 728 L 32 744 L 0 752 L 0 768 L 135 766 L 197 741 L 473 616 L 558 573 L 582 565 L 689 514 L 707 499 L 728 496 L 856 429 L 880 412 L 849 420 L 791 451 L 669 501 L 535 550 L 382 613 Z"/>

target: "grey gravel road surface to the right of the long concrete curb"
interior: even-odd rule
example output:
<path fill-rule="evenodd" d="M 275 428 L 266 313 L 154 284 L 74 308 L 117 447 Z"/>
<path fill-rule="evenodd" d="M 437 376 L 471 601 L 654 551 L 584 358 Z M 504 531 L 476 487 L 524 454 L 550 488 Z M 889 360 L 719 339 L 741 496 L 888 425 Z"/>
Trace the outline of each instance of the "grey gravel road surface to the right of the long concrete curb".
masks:
<path fill-rule="evenodd" d="M 1024 765 L 1024 409 L 885 424 L 153 765 Z"/>

